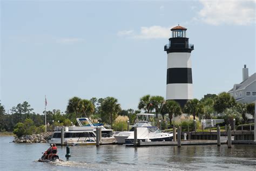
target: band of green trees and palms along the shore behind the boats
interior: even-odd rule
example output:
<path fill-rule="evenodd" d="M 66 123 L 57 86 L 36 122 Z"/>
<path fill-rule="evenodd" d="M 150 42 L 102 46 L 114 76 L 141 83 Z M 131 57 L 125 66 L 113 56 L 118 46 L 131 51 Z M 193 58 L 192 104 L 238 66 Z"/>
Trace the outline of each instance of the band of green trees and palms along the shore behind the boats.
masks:
<path fill-rule="evenodd" d="M 45 112 L 42 114 L 33 112 L 33 108 L 27 101 L 12 107 L 10 111 L 11 114 L 6 114 L 4 106 L 0 105 L 1 131 L 14 131 L 15 128 L 21 126 L 21 124 L 17 125 L 19 122 L 31 125 L 32 121 L 33 126 L 41 126 L 38 130 L 42 130 L 42 125 L 45 124 Z M 140 112 L 155 113 L 156 119 L 165 118 L 167 114 L 169 125 L 172 124 L 173 117 L 181 113 L 193 115 L 194 119 L 196 117 L 200 119 L 223 118 L 227 124 L 232 125 L 233 119 L 236 119 L 238 124 L 246 123 L 246 113 L 254 115 L 254 104 L 239 104 L 230 94 L 223 92 L 218 95 L 206 94 L 200 100 L 188 100 L 185 106 L 181 107 L 174 100 L 166 101 L 164 97 L 159 95 L 147 94 L 139 99 L 138 110 L 122 110 L 118 100 L 113 97 L 91 98 L 89 100 L 72 97 L 68 101 L 65 112 L 60 110 L 46 111 L 46 122 L 55 126 L 69 126 L 76 124 L 76 118 L 90 117 L 112 127 L 118 115 L 126 115 L 129 117 L 130 123 L 133 124 L 136 114 Z"/>

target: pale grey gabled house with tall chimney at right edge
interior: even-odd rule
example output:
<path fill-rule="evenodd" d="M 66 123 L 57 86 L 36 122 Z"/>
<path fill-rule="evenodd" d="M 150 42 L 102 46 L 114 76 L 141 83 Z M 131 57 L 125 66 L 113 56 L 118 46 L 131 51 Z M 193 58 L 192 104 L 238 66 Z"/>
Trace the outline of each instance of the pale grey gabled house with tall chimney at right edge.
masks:
<path fill-rule="evenodd" d="M 249 77 L 248 68 L 244 65 L 242 69 L 242 82 L 234 84 L 228 91 L 237 102 L 250 104 L 256 100 L 256 73 Z"/>

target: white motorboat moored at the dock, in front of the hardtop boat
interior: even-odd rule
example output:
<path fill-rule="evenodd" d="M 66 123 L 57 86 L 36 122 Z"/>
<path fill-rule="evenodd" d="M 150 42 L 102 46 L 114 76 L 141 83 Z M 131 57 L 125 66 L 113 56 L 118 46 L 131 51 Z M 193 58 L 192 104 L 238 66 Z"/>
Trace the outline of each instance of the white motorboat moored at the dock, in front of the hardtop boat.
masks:
<path fill-rule="evenodd" d="M 163 133 L 155 126 L 137 127 L 137 140 L 138 141 L 172 141 L 173 133 Z M 134 142 L 134 132 L 132 132 L 125 144 Z"/>

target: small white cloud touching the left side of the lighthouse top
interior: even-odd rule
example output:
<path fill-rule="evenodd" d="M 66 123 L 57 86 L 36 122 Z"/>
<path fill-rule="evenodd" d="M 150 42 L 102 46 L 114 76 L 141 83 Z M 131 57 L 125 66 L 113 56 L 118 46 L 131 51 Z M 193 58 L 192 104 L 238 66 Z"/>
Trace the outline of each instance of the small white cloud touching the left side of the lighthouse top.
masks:
<path fill-rule="evenodd" d="M 123 30 L 118 31 L 118 36 L 126 36 L 134 39 L 159 39 L 159 38 L 169 38 L 170 37 L 170 28 L 163 27 L 158 25 L 153 25 L 149 27 L 141 27 L 139 33 L 134 33 L 133 30 Z"/>

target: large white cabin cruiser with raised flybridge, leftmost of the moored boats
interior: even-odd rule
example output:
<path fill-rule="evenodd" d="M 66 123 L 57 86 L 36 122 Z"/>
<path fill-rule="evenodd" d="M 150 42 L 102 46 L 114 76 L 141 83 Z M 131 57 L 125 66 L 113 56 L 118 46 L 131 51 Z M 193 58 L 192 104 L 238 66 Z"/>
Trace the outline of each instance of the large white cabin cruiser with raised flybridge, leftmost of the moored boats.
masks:
<path fill-rule="evenodd" d="M 102 144 L 114 142 L 113 129 L 107 129 L 102 124 L 92 124 L 88 118 L 77 118 L 79 126 L 65 127 L 64 143 L 66 145 L 96 145 L 96 128 L 102 129 Z M 61 144 L 61 127 L 55 127 L 50 143 Z"/>

